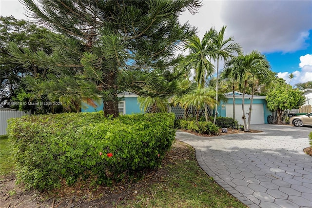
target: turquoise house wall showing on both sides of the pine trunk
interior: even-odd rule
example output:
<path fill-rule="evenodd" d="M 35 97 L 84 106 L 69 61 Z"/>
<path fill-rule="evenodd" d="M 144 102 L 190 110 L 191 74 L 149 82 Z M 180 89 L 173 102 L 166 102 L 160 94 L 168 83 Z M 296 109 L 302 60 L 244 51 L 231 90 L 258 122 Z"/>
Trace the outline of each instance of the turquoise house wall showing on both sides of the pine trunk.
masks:
<path fill-rule="evenodd" d="M 139 104 L 137 103 L 137 97 L 125 97 L 122 101 L 125 101 L 126 114 L 142 113 Z M 104 104 L 102 101 L 97 103 L 97 105 L 98 106 L 94 108 L 91 105 L 82 102 L 81 112 L 98 112 L 103 110 Z"/>

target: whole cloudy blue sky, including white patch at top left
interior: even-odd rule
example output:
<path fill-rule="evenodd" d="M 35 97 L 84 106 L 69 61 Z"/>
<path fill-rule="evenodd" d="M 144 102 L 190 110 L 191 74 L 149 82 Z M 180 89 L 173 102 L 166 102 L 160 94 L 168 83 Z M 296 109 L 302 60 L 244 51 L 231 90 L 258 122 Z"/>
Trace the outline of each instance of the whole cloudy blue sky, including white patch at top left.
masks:
<path fill-rule="evenodd" d="M 225 37 L 233 36 L 244 53 L 258 50 L 267 56 L 272 71 L 291 84 L 312 81 L 311 0 L 203 0 L 198 13 L 185 11 L 181 23 L 189 21 L 198 36 L 211 27 L 227 25 Z M 0 0 L 0 14 L 27 19 L 18 0 Z M 221 63 L 222 64 L 222 63 Z M 221 67 L 222 68 L 222 67 Z"/>

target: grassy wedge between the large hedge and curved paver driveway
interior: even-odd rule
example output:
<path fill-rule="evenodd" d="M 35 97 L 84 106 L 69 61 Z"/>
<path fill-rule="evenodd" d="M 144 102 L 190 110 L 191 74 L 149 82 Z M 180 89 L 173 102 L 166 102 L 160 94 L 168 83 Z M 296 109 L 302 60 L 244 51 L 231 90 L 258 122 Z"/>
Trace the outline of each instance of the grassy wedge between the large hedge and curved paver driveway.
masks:
<path fill-rule="evenodd" d="M 246 208 L 198 166 L 194 149 L 179 141 L 152 177 L 133 200 L 119 207 Z"/>

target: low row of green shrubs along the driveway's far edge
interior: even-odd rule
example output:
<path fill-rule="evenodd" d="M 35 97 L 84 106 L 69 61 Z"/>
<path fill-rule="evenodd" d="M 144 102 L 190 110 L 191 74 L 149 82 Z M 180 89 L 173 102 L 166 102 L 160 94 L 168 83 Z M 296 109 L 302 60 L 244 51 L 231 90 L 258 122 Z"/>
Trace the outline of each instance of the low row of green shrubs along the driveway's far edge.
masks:
<path fill-rule="evenodd" d="M 212 122 L 199 121 L 189 121 L 189 120 L 178 120 L 176 122 L 176 127 L 181 129 L 187 129 L 201 134 L 216 134 L 219 131 L 218 126 L 214 125 Z"/>

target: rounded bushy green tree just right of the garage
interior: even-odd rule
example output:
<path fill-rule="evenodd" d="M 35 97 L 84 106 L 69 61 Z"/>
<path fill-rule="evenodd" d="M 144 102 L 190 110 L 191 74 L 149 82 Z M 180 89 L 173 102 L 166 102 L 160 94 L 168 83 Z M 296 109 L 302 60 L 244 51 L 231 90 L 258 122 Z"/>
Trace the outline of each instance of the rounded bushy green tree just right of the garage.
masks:
<path fill-rule="evenodd" d="M 284 110 L 297 109 L 304 104 L 305 97 L 299 89 L 293 89 L 282 78 L 275 78 L 273 89 L 267 94 L 268 108 L 277 111 L 277 124 L 282 124 Z"/>

